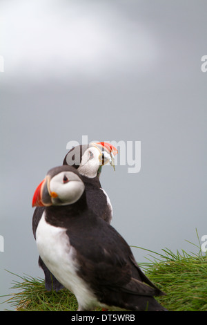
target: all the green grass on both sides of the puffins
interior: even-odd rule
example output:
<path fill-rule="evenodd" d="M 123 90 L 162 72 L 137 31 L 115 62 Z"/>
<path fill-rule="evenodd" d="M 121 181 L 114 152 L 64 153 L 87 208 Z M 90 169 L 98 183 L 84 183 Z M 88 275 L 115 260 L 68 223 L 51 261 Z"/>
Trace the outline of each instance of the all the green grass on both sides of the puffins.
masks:
<path fill-rule="evenodd" d="M 166 293 L 157 300 L 168 310 L 207 311 L 207 255 L 201 253 L 200 245 L 195 246 L 197 254 L 184 250 L 173 253 L 164 249 L 163 254 L 146 250 L 150 252 L 150 259 L 147 258 L 147 263 L 139 263 L 150 280 Z M 58 293 L 46 291 L 43 279 L 19 277 L 12 288 L 19 292 L 11 295 L 8 303 L 16 310 L 77 310 L 74 295 L 66 289 Z"/>

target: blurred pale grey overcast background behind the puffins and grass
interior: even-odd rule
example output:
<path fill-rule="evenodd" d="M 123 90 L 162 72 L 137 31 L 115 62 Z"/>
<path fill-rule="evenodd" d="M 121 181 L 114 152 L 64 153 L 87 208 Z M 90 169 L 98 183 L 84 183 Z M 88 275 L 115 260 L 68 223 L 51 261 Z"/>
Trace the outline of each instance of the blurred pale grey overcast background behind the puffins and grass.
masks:
<path fill-rule="evenodd" d="M 6 270 L 43 277 L 32 196 L 83 135 L 141 141 L 139 173 L 101 174 L 126 241 L 197 251 L 186 240 L 207 234 L 206 12 L 199 0 L 1 0 L 0 295 L 18 280 Z"/>

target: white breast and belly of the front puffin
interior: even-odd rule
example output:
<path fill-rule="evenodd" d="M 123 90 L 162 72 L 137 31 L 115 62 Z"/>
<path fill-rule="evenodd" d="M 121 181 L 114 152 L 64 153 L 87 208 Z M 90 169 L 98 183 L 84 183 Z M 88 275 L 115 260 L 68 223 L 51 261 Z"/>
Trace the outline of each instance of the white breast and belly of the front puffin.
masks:
<path fill-rule="evenodd" d="M 66 229 L 47 223 L 45 212 L 37 227 L 36 241 L 41 259 L 57 280 L 75 294 L 79 308 L 97 304 L 88 284 L 77 275 L 76 251 L 70 245 Z"/>

